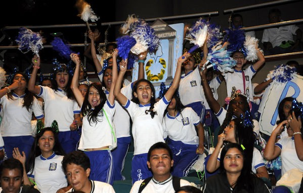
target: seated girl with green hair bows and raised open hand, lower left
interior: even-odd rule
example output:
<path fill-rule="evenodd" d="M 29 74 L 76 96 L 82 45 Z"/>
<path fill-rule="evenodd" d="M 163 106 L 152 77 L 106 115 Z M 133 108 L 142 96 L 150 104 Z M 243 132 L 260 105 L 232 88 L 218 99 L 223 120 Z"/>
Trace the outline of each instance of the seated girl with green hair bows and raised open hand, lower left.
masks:
<path fill-rule="evenodd" d="M 38 130 L 27 160 L 24 152 L 20 153 L 18 148 L 13 152 L 13 157 L 23 164 L 24 184 L 36 185 L 42 193 L 55 193 L 60 188 L 67 188 L 61 165 L 65 153 L 57 133 L 58 128 L 47 127 Z"/>

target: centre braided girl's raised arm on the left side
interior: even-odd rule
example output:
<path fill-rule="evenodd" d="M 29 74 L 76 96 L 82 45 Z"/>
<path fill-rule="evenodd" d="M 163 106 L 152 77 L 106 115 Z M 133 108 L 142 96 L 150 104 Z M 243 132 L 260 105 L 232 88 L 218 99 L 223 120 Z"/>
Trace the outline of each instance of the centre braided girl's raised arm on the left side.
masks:
<path fill-rule="evenodd" d="M 116 49 L 116 52 L 118 50 Z M 127 98 L 121 93 L 121 84 L 122 84 L 122 81 L 123 81 L 123 77 L 124 77 L 124 74 L 126 72 L 126 64 L 127 64 L 127 59 L 126 61 L 125 60 L 122 60 L 120 62 L 120 72 L 118 74 L 118 70 L 117 70 L 117 60 L 114 60 L 113 59 L 113 78 L 114 77 L 117 77 L 117 74 L 118 74 L 118 78 L 116 80 L 116 83 L 115 83 L 115 87 L 114 87 L 114 96 L 118 99 L 118 101 L 122 104 L 122 105 L 125 105 L 126 102 L 127 102 Z M 116 67 L 114 67 L 116 66 Z M 116 69 L 116 70 L 114 70 Z"/>

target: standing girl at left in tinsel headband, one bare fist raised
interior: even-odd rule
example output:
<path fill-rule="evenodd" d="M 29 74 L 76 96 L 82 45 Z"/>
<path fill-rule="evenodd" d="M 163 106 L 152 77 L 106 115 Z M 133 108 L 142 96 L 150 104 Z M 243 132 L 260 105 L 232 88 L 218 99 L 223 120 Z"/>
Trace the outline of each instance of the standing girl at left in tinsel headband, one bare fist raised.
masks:
<path fill-rule="evenodd" d="M 81 125 L 80 108 L 70 88 L 71 70 L 65 64 L 54 68 L 53 89 L 35 86 L 36 74 L 40 68 L 40 58 L 32 58 L 34 64 L 32 76 L 28 83 L 28 90 L 44 99 L 45 126 L 50 127 L 52 122 L 58 122 L 59 141 L 66 153 L 76 149 L 79 134 L 76 131 Z"/>

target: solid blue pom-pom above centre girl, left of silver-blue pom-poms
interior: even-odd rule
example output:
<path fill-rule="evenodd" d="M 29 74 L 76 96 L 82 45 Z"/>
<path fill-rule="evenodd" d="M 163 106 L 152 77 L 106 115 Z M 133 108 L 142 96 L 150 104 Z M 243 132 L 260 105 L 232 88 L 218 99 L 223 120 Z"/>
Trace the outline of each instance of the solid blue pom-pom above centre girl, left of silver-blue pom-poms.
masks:
<path fill-rule="evenodd" d="M 126 60 L 128 58 L 129 51 L 135 46 L 136 40 L 134 37 L 123 35 L 117 38 L 117 49 L 119 50 L 119 56 Z"/>

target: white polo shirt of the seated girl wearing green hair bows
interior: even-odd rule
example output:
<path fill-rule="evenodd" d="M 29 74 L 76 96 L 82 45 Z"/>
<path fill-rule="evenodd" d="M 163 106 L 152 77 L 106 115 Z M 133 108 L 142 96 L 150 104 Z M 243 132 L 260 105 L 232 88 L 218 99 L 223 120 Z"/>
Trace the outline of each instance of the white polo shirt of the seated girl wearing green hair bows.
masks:
<path fill-rule="evenodd" d="M 36 157 L 33 172 L 29 172 L 27 176 L 34 179 L 41 193 L 55 193 L 58 189 L 67 186 L 62 160 L 63 156 L 58 156 L 55 152 L 49 158 L 44 158 L 42 155 Z"/>

